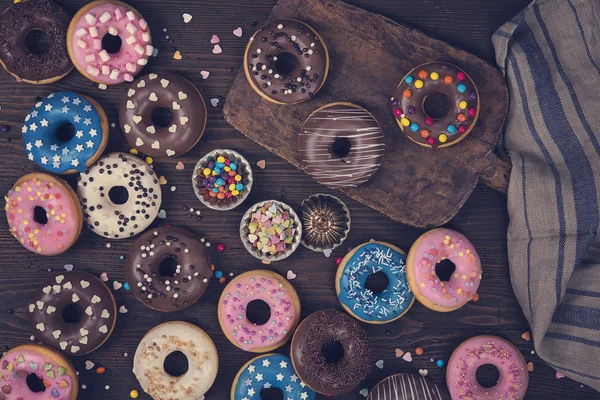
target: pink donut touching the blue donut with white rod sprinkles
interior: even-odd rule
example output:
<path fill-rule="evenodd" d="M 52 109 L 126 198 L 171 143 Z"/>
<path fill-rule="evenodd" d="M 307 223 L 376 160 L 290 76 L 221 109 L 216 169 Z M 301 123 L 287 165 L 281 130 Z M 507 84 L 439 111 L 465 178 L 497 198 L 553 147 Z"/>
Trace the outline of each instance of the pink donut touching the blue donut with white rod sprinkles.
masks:
<path fill-rule="evenodd" d="M 440 279 L 436 266 L 449 260 L 455 270 Z M 481 283 L 481 260 L 461 233 L 438 228 L 424 233 L 411 246 L 406 276 L 413 294 L 425 307 L 439 312 L 458 310 L 472 300 Z"/>

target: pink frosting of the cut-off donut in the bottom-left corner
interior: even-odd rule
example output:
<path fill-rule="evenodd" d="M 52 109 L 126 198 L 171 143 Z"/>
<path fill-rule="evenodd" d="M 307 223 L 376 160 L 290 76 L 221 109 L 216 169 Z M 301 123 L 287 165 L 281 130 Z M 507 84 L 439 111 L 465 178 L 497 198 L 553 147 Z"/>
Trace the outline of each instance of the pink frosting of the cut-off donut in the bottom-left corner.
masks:
<path fill-rule="evenodd" d="M 7 399 L 27 400 L 70 400 L 73 380 L 67 375 L 68 364 L 56 365 L 52 359 L 42 354 L 16 347 L 2 357 L 0 361 L 0 388 Z M 27 376 L 36 374 L 44 381 L 46 390 L 34 393 L 27 386 Z M 75 383 L 76 384 L 76 383 Z M 8 393 L 7 393 L 8 392 Z"/>

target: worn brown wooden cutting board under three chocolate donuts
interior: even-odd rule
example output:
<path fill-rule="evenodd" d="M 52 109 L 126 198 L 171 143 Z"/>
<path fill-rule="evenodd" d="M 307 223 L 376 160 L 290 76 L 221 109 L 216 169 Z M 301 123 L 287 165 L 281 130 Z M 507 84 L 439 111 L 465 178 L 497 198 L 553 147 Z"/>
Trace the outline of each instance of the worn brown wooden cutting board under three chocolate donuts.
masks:
<path fill-rule="evenodd" d="M 329 49 L 329 77 L 310 101 L 280 106 L 258 96 L 241 68 L 224 108 L 233 127 L 302 168 L 298 133 L 310 113 L 336 101 L 361 105 L 383 128 L 385 155 L 368 182 L 343 192 L 411 226 L 446 223 L 479 180 L 506 192 L 510 161 L 494 153 L 508 112 L 508 91 L 498 70 L 447 43 L 337 0 L 280 0 L 269 21 L 281 18 L 305 21 L 320 33 Z M 481 99 L 477 126 L 465 140 L 445 149 L 411 142 L 398 128 L 390 106 L 406 73 L 429 61 L 461 67 L 477 84 Z"/>

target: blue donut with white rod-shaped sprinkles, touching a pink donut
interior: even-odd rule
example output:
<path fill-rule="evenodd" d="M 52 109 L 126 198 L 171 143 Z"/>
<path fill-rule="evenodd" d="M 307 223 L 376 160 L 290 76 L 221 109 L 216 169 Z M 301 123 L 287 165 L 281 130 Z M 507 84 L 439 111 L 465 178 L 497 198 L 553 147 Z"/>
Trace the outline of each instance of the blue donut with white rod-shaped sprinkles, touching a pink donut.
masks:
<path fill-rule="evenodd" d="M 387 287 L 379 293 L 367 288 L 367 279 L 382 273 Z M 335 290 L 344 310 L 369 324 L 395 321 L 415 301 L 406 279 L 406 254 L 384 242 L 363 243 L 346 254 L 337 270 Z"/>

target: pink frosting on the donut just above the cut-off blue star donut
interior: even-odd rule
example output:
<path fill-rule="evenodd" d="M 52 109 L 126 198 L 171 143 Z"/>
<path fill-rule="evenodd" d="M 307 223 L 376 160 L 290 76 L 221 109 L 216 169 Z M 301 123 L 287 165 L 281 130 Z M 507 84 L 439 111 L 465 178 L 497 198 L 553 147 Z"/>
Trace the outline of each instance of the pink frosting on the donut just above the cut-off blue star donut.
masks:
<path fill-rule="evenodd" d="M 271 317 L 264 325 L 246 318 L 246 307 L 252 300 L 263 300 L 271 307 Z M 243 350 L 274 346 L 293 330 L 297 310 L 292 297 L 279 279 L 260 273 L 241 276 L 225 288 L 219 308 L 224 328 Z"/>

